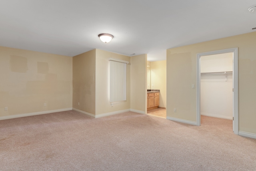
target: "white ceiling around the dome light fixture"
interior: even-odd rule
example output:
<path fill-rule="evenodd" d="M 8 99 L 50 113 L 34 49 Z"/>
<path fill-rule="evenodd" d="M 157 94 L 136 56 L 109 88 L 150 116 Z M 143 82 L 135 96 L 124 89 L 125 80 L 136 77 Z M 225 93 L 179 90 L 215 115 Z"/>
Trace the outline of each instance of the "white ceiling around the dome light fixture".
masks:
<path fill-rule="evenodd" d="M 1 0 L 0 46 L 76 56 L 148 54 L 253 32 L 255 0 Z M 104 44 L 100 33 L 113 40 Z"/>

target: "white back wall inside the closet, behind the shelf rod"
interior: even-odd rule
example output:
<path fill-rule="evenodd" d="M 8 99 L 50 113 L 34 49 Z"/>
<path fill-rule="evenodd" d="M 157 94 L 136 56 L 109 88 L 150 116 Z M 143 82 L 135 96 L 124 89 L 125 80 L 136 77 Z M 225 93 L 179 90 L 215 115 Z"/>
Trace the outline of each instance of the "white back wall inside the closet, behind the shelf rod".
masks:
<path fill-rule="evenodd" d="M 201 115 L 232 119 L 233 53 L 201 57 Z M 204 73 L 204 74 L 202 74 Z"/>

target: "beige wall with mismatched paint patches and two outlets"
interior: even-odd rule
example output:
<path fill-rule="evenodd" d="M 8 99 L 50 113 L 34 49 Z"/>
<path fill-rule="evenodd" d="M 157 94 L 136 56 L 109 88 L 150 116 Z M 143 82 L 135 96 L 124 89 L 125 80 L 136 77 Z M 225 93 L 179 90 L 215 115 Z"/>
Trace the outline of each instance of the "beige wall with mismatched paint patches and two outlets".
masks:
<path fill-rule="evenodd" d="M 72 57 L 0 47 L 0 80 L 0 117 L 72 107 Z"/>

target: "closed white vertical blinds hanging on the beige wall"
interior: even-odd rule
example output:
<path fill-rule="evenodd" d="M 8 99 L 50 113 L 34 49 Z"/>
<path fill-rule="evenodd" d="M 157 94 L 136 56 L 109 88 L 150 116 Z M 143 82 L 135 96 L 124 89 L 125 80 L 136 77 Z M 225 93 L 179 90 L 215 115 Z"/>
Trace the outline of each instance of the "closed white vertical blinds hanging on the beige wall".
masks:
<path fill-rule="evenodd" d="M 110 103 L 126 100 L 126 65 L 110 60 Z"/>

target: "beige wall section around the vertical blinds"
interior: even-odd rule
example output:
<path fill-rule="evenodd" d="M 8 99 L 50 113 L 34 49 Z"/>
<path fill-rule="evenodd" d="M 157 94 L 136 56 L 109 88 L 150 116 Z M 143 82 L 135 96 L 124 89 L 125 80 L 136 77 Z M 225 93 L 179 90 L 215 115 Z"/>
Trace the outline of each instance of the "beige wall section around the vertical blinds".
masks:
<path fill-rule="evenodd" d="M 130 62 L 129 56 L 124 56 L 96 49 L 96 115 L 130 109 L 130 64 L 127 65 L 126 101 L 114 102 L 109 99 L 109 58 Z"/>

